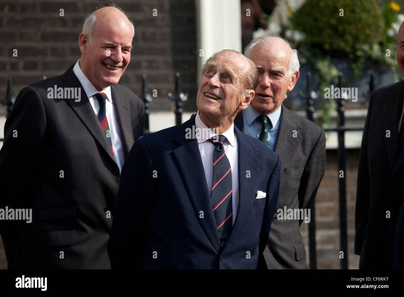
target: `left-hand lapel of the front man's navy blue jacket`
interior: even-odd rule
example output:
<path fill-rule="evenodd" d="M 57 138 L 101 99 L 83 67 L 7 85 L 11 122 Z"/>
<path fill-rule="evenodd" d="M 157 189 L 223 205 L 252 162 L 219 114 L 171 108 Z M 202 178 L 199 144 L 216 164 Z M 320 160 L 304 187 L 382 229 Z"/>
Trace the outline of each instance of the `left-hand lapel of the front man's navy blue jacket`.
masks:
<path fill-rule="evenodd" d="M 215 216 L 213 215 L 210 196 L 206 185 L 205 171 L 199 152 L 198 141 L 196 139 L 186 139 L 187 128 L 192 130 L 195 125 L 195 116 L 183 123 L 178 129 L 174 141 L 179 143 L 179 147 L 173 151 L 175 161 L 183 178 L 191 203 L 194 205 L 196 215 L 200 211 L 204 212 L 204 219 L 200 219 L 206 235 L 215 249 L 219 251 L 220 242 L 217 233 Z"/>

